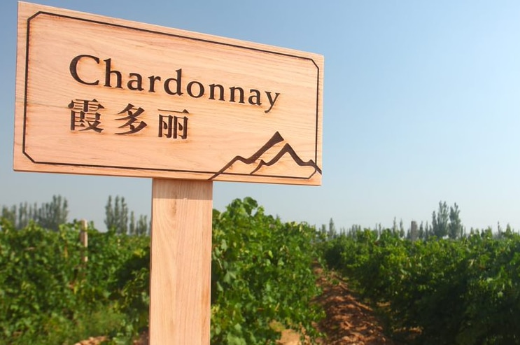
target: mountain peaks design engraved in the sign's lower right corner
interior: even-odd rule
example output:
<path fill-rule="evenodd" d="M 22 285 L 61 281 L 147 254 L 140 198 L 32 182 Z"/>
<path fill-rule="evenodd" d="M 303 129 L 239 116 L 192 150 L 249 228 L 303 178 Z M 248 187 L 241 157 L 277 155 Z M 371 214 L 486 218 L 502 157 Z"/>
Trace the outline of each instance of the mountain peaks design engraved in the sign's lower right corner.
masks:
<path fill-rule="evenodd" d="M 283 171 L 290 171 L 290 176 L 286 176 L 283 172 L 276 172 L 280 170 L 276 169 L 280 165 L 283 165 L 281 167 Z M 209 179 L 213 180 L 220 174 L 311 178 L 316 172 L 321 174 L 321 169 L 316 162 L 302 160 L 281 134 L 276 132 L 251 157 L 237 155 Z"/>

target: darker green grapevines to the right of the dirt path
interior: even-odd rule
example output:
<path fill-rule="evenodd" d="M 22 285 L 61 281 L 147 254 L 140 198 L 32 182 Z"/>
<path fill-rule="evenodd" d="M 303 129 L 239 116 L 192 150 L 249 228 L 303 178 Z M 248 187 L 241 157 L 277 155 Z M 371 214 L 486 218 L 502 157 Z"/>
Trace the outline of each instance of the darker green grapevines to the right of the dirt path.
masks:
<path fill-rule="evenodd" d="M 409 241 L 364 230 L 326 246 L 328 265 L 379 308 L 404 344 L 520 343 L 519 234 Z"/>

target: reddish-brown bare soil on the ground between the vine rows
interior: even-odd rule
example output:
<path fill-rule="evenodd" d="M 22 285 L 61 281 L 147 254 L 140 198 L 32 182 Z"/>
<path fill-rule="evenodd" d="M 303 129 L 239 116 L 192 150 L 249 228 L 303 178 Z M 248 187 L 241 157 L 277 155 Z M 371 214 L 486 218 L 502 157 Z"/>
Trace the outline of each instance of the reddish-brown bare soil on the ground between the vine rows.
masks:
<path fill-rule="evenodd" d="M 316 328 L 325 334 L 318 339 L 323 345 L 398 345 L 386 337 L 374 311 L 360 302 L 349 290 L 346 282 L 334 274 L 325 274 L 323 269 L 316 268 L 318 284 L 323 295 L 316 302 L 323 305 L 326 318 Z M 99 345 L 106 337 L 83 340 L 75 345 Z M 293 330 L 283 330 L 279 345 L 307 345 L 300 341 L 300 334 Z M 134 345 L 148 345 L 148 335 L 143 334 Z"/>

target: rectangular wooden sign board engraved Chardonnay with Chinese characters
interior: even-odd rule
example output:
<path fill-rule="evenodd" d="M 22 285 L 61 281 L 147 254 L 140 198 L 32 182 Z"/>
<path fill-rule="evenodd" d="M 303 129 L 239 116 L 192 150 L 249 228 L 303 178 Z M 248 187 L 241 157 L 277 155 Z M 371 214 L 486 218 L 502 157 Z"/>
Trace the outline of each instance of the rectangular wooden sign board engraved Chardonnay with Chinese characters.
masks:
<path fill-rule="evenodd" d="M 20 3 L 14 168 L 321 184 L 323 56 Z"/>

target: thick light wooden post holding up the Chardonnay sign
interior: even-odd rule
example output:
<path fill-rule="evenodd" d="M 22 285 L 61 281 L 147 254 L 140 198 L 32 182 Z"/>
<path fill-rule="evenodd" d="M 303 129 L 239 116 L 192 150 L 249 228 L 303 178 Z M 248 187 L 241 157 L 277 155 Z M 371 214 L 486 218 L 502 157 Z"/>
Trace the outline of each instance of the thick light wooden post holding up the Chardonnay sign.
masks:
<path fill-rule="evenodd" d="M 211 181 L 153 179 L 150 345 L 209 345 Z"/>

